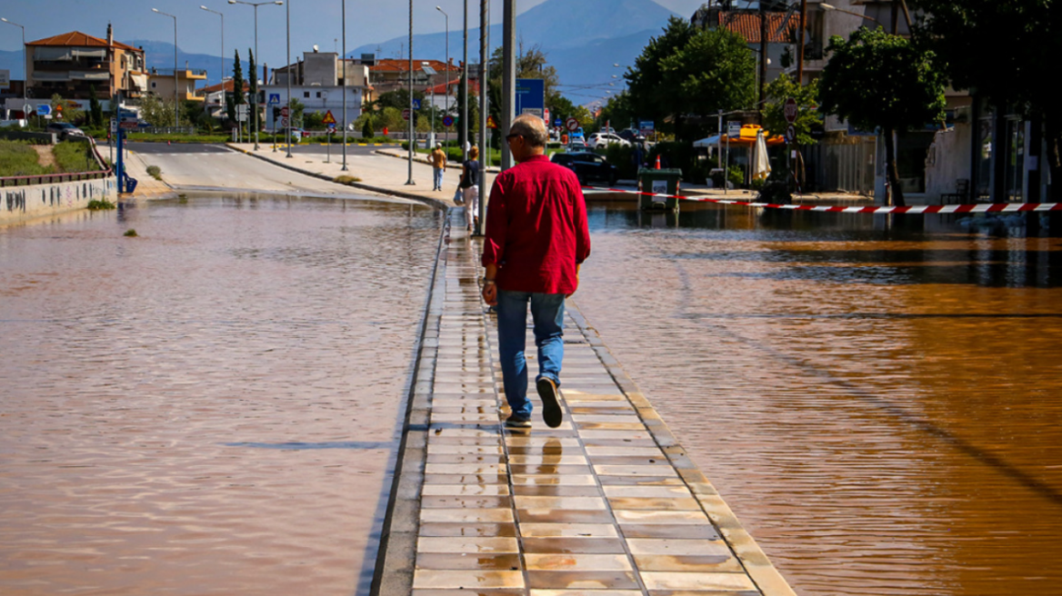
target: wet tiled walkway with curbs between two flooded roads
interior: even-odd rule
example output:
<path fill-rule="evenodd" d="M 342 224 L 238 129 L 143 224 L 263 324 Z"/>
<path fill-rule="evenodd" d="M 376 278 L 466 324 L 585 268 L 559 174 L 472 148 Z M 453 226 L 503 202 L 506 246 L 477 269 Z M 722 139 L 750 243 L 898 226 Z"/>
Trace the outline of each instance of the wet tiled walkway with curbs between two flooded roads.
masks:
<path fill-rule="evenodd" d="M 535 396 L 533 428 L 502 426 L 462 216 L 428 309 L 376 593 L 792 595 L 571 300 L 564 423 L 547 427 Z M 533 375 L 533 345 L 528 361 Z"/>

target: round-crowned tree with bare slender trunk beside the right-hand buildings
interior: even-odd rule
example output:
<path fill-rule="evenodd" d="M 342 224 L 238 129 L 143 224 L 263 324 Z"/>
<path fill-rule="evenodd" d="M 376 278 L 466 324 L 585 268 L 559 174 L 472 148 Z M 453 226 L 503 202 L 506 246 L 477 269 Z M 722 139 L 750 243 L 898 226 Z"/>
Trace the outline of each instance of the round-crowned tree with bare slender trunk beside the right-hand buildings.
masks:
<path fill-rule="evenodd" d="M 857 128 L 880 127 L 893 205 L 904 205 L 893 136 L 944 119 L 944 76 L 931 51 L 883 29 L 859 29 L 847 41 L 835 35 L 822 71 L 822 110 Z"/>

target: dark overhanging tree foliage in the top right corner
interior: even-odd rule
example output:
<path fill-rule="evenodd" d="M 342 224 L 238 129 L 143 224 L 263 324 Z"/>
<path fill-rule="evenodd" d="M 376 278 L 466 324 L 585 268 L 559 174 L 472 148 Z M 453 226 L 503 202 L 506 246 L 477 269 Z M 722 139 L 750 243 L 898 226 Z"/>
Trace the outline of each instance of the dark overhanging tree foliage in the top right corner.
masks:
<path fill-rule="evenodd" d="M 1062 200 L 1062 117 L 1050 66 L 1062 55 L 1058 0 L 919 0 L 927 12 L 915 40 L 944 65 L 953 87 L 1000 110 L 1040 120 L 1047 137 L 1051 199 Z M 994 40 L 1006 40 L 993 42 Z"/>

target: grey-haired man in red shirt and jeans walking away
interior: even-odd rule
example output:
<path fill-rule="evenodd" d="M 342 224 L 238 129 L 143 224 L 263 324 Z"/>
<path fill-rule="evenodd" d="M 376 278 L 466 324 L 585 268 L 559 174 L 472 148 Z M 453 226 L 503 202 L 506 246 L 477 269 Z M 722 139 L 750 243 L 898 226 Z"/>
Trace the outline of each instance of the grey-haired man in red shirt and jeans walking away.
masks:
<path fill-rule="evenodd" d="M 498 352 L 506 401 L 506 426 L 531 426 L 527 398 L 527 312 L 531 305 L 538 348 L 535 388 L 543 419 L 558 427 L 564 360 L 564 299 L 579 286 L 579 266 L 590 253 L 586 204 L 576 174 L 546 158 L 546 124 L 524 115 L 506 137 L 517 165 L 498 175 L 486 209 L 483 300 L 497 306 Z"/>

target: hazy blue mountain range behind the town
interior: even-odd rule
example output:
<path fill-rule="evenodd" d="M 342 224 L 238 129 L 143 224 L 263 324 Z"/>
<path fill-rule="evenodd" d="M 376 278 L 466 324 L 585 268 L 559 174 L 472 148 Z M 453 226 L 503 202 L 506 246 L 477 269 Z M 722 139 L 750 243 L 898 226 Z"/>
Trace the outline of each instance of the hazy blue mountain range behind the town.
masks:
<path fill-rule="evenodd" d="M 428 11 L 424 11 L 428 13 Z M 495 17 L 497 15 L 494 15 Z M 652 0 L 547 0 L 516 17 L 517 42 L 525 49 L 537 46 L 549 65 L 556 69 L 561 92 L 573 103 L 589 103 L 606 97 L 605 90 L 622 88 L 626 67 L 633 64 L 650 37 L 658 35 L 674 13 Z M 417 14 L 414 14 L 414 27 Z M 469 11 L 469 22 L 479 15 Z M 458 63 L 462 58 L 462 25 L 459 19 L 450 22 L 449 57 Z M 55 32 L 59 33 L 59 32 Z M 502 41 L 500 24 L 489 29 L 491 48 Z M 148 67 L 173 68 L 173 43 L 147 39 L 124 41 L 142 47 Z M 347 52 L 359 57 L 362 53 L 376 54 L 378 58 L 408 56 L 408 37 L 395 37 L 377 43 L 365 43 Z M 447 43 L 445 33 L 413 36 L 413 54 L 416 59 L 444 59 Z M 230 74 L 233 55 L 226 48 L 225 68 Z M 244 76 L 247 75 L 245 52 L 241 51 Z M 468 62 L 479 63 L 479 29 L 468 30 Z M 0 69 L 10 69 L 12 78 L 20 78 L 22 52 L 0 51 Z M 616 68 L 613 65 L 620 65 Z M 177 66 L 205 69 L 209 84 L 218 83 L 220 56 L 192 53 L 177 49 Z M 278 67 L 282 65 L 270 65 Z M 616 75 L 617 78 L 612 78 Z M 610 83 L 614 83 L 610 87 Z"/>

